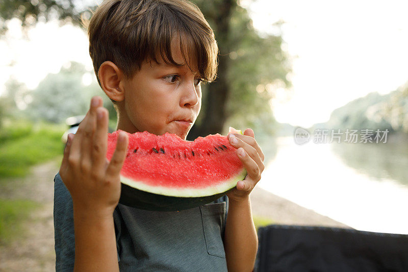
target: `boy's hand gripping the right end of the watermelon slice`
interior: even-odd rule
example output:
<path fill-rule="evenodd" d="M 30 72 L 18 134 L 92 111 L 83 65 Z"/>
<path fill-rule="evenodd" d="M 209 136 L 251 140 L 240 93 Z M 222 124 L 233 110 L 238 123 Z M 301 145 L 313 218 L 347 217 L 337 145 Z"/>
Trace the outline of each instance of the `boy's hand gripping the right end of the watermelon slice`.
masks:
<path fill-rule="evenodd" d="M 237 140 L 236 143 L 233 142 L 234 139 Z M 228 134 L 228 141 L 237 149 L 238 158 L 247 170 L 245 179 L 239 181 L 237 187 L 226 194 L 228 200 L 239 202 L 248 199 L 253 187 L 260 181 L 261 174 L 265 169 L 265 156 L 255 140 L 255 134 L 251 129 L 246 129 L 244 135 L 237 133 Z M 240 156 L 241 151 L 244 152 L 244 156 Z"/>

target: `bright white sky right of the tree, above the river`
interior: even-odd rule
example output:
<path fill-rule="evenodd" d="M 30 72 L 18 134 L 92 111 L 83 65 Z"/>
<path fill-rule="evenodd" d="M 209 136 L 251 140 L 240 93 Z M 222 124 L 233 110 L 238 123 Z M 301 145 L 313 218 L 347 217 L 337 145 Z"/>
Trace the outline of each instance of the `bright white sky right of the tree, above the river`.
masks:
<path fill-rule="evenodd" d="M 249 7 L 255 28 L 282 35 L 293 57 L 293 88 L 278 90 L 279 122 L 309 127 L 331 111 L 408 81 L 408 2 L 259 0 Z M 296 58 L 297 56 L 297 58 Z"/>

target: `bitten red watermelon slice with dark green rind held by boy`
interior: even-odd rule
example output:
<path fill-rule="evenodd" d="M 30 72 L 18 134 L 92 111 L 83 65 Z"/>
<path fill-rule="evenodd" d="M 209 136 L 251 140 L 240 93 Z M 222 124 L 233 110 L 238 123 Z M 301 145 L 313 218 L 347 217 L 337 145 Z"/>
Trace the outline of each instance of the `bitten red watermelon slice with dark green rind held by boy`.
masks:
<path fill-rule="evenodd" d="M 108 135 L 108 160 L 119 131 Z M 185 141 L 170 133 L 127 135 L 129 145 L 120 171 L 121 204 L 155 211 L 190 209 L 218 199 L 246 176 L 226 136 Z"/>

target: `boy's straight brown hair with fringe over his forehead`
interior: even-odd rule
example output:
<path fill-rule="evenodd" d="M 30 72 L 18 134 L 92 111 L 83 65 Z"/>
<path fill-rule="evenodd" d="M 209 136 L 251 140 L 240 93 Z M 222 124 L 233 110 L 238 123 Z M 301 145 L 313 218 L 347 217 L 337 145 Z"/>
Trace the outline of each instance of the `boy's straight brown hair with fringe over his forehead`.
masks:
<path fill-rule="evenodd" d="M 214 32 L 199 8 L 185 0 L 106 0 L 93 13 L 88 27 L 89 54 L 98 77 L 100 65 L 112 61 L 125 77 L 132 78 L 144 60 L 157 56 L 177 65 L 171 41 L 180 39 L 188 67 L 195 61 L 199 76 L 216 78 L 218 46 Z M 99 78 L 98 78 L 98 83 Z"/>

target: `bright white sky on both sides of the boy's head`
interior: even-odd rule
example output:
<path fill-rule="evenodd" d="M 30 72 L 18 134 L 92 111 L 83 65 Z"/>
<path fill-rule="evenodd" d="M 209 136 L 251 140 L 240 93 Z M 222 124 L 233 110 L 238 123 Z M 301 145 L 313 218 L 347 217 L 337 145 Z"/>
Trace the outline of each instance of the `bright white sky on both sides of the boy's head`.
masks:
<path fill-rule="evenodd" d="M 275 118 L 293 126 L 325 122 L 355 98 L 395 90 L 408 81 L 405 1 L 240 0 L 261 33 L 282 34 L 292 60 L 290 89 L 275 88 Z M 272 24 L 285 21 L 282 32 Z M 0 39 L 0 93 L 12 76 L 34 89 L 69 61 L 92 71 L 84 31 L 38 23 L 24 39 L 18 20 Z M 14 64 L 10 66 L 10 64 Z"/>

